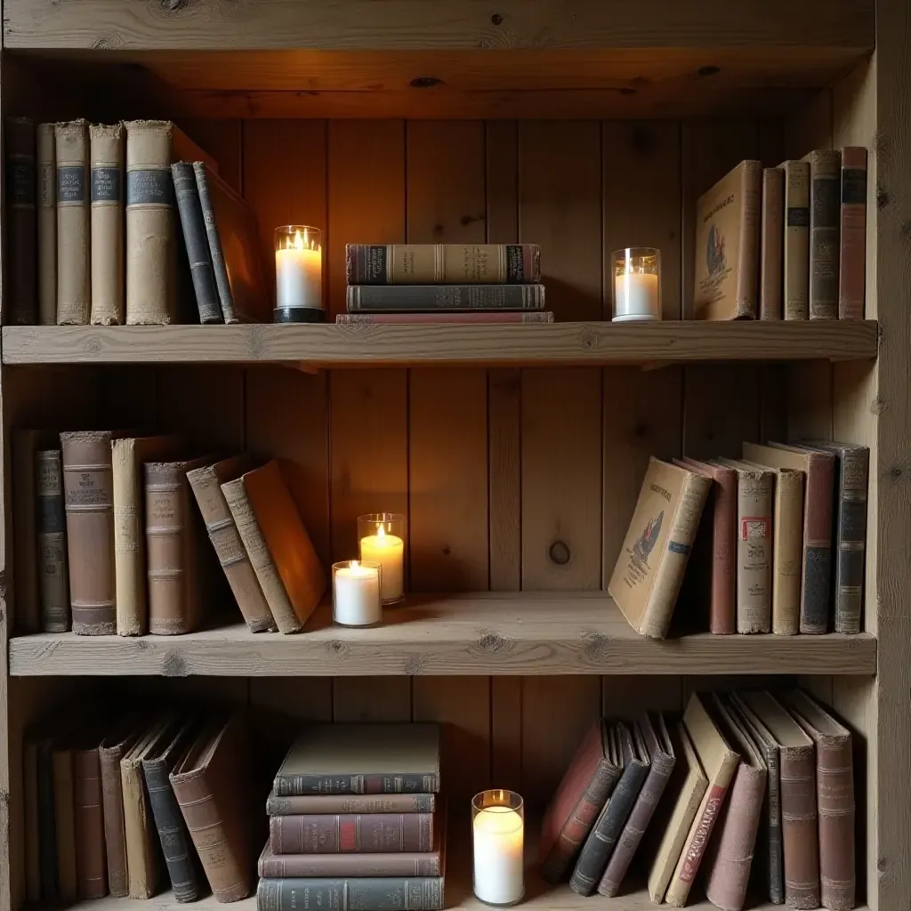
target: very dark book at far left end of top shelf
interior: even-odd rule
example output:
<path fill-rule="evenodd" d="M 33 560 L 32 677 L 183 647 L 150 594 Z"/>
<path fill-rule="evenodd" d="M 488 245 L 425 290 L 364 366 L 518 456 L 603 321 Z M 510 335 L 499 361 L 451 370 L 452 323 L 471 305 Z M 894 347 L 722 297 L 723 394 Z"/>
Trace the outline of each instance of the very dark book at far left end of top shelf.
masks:
<path fill-rule="evenodd" d="M 37 213 L 35 123 L 5 119 L 6 222 L 5 322 L 34 325 L 37 316 Z"/>

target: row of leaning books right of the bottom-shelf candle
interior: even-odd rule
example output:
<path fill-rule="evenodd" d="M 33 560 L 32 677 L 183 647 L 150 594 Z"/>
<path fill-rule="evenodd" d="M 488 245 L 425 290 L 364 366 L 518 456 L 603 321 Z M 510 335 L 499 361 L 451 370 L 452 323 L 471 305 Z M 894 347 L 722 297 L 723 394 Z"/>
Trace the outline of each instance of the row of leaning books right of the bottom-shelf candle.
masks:
<path fill-rule="evenodd" d="M 748 888 L 797 908 L 855 906 L 851 734 L 804 691 L 693 694 L 679 724 L 599 721 L 548 807 L 542 873 L 619 895 L 642 861 L 653 902 L 697 878 L 740 911 Z"/>

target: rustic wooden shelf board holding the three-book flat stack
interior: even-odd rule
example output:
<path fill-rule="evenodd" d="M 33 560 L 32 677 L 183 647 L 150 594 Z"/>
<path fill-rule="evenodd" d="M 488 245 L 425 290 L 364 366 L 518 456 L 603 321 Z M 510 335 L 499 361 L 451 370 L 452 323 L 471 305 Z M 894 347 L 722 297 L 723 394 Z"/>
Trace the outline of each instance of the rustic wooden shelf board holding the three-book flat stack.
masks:
<path fill-rule="evenodd" d="M 312 367 L 851 361 L 876 322 L 540 325 L 8 326 L 3 363 L 302 363 Z"/>

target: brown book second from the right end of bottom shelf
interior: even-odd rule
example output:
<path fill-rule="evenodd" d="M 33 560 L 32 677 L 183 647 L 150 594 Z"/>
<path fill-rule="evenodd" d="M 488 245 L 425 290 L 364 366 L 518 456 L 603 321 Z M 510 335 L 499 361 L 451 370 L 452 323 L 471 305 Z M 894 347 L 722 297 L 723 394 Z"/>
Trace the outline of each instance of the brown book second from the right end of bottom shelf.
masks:
<path fill-rule="evenodd" d="M 817 908 L 820 888 L 814 742 L 770 693 L 747 691 L 741 698 L 778 746 L 784 904 Z"/>

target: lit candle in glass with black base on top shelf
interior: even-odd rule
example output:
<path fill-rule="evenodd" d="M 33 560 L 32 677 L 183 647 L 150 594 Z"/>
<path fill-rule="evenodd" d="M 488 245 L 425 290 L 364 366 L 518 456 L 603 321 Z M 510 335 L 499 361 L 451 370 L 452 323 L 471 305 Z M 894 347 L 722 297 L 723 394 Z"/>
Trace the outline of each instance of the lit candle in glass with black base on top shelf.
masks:
<path fill-rule="evenodd" d="M 323 322 L 322 231 L 310 225 L 275 229 L 272 322 Z"/>

